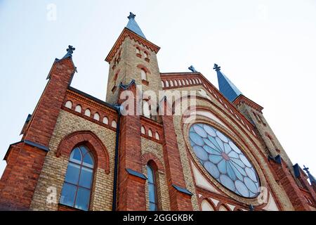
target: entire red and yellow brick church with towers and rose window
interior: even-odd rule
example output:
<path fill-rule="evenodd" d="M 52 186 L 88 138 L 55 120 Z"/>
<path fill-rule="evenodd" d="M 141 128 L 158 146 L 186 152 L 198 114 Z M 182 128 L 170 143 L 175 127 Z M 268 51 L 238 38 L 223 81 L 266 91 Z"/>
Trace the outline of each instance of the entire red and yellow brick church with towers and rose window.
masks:
<path fill-rule="evenodd" d="M 219 65 L 219 89 L 193 66 L 159 72 L 159 46 L 128 18 L 105 58 L 105 101 L 72 87 L 73 46 L 55 59 L 8 146 L 0 210 L 315 211 L 316 179 L 263 107 Z"/>

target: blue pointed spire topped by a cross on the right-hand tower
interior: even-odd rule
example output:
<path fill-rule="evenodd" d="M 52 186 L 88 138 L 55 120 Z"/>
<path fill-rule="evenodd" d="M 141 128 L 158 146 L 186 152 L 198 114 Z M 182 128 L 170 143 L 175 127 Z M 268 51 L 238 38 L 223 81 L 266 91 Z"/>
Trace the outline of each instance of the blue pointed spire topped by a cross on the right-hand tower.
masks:
<path fill-rule="evenodd" d="M 218 87 L 220 93 L 222 93 L 230 102 L 234 101 L 239 95 L 242 94 L 235 84 L 232 84 L 230 79 L 226 77 L 223 72 L 220 72 L 220 66 L 214 64 L 214 70 L 217 72 L 217 79 L 218 79 Z"/>

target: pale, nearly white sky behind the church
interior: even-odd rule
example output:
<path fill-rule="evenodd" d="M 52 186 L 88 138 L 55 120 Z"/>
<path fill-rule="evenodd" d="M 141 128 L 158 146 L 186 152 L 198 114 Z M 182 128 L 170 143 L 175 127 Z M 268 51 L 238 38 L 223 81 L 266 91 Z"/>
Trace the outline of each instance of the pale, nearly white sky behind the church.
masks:
<path fill-rule="evenodd" d="M 161 47 L 161 72 L 194 65 L 218 86 L 213 63 L 264 107 L 292 162 L 316 176 L 316 1 L 0 0 L 0 160 L 19 136 L 53 60 L 73 45 L 72 86 L 105 100 L 105 57 L 128 23 Z M 0 174 L 6 163 L 0 163 Z"/>

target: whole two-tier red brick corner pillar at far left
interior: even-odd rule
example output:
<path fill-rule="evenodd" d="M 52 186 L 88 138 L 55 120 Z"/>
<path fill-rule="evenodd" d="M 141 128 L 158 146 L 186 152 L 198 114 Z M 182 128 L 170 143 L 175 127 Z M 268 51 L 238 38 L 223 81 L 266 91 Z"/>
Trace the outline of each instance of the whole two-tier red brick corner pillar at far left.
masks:
<path fill-rule="evenodd" d="M 32 119 L 20 143 L 6 153 L 7 166 L 0 181 L 0 208 L 28 210 L 48 151 L 55 122 L 74 74 L 71 58 L 55 61 Z"/>

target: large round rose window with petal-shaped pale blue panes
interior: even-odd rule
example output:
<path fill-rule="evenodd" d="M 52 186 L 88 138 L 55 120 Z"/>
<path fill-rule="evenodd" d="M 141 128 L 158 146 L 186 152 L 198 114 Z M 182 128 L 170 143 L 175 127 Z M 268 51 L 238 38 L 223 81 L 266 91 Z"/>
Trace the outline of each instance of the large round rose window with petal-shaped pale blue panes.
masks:
<path fill-rule="evenodd" d="M 232 140 L 202 123 L 193 124 L 189 136 L 199 162 L 220 184 L 246 198 L 258 195 L 258 175 Z"/>

